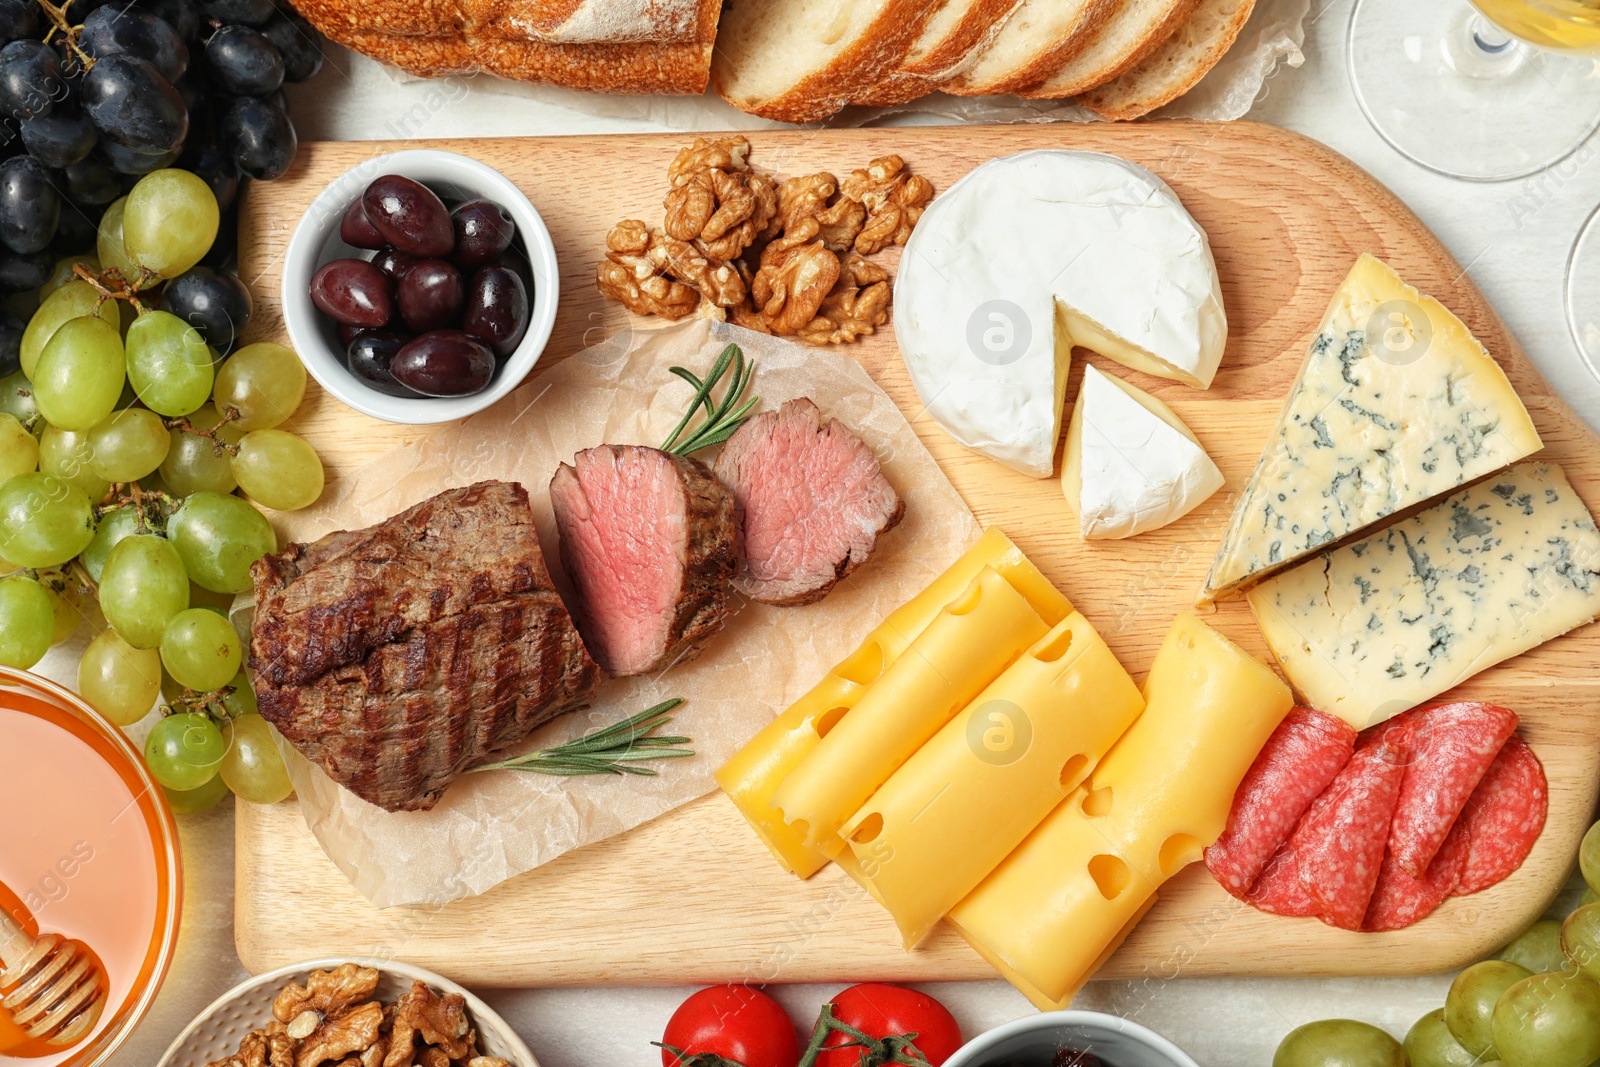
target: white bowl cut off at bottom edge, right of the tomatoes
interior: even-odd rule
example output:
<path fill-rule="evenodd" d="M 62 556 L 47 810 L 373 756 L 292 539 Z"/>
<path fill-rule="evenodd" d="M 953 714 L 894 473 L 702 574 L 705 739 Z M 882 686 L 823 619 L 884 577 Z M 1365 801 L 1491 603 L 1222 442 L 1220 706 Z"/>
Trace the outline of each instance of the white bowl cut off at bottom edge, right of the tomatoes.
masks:
<path fill-rule="evenodd" d="M 944 1067 L 1050 1067 L 1058 1048 L 1094 1053 L 1107 1067 L 1200 1067 L 1160 1033 L 1098 1011 L 1046 1011 L 963 1045 Z"/>

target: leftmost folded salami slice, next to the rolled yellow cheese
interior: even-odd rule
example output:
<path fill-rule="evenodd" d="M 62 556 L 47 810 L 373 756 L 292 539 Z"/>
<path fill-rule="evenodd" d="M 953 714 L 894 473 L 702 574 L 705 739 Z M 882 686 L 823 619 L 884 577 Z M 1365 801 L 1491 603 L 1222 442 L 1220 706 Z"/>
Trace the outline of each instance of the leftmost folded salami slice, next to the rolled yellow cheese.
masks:
<path fill-rule="evenodd" d="M 1224 889 L 1248 899 L 1250 886 L 1354 749 L 1355 731 L 1326 712 L 1296 707 L 1278 723 L 1234 793 L 1227 829 L 1205 849 L 1205 865 Z"/>

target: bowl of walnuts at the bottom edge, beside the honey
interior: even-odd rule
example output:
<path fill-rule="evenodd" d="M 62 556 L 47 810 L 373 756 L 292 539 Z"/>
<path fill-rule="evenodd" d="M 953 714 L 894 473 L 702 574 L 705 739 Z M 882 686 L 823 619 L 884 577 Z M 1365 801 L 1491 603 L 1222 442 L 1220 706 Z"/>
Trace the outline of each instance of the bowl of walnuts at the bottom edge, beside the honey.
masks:
<path fill-rule="evenodd" d="M 272 1021 L 272 998 L 290 982 L 306 982 L 312 971 L 331 971 L 341 963 L 378 968 L 378 998 L 386 1005 L 411 989 L 411 981 L 427 982 L 442 993 L 461 993 L 467 1001 L 467 1016 L 478 1032 L 478 1048 L 485 1056 L 499 1056 L 512 1067 L 539 1067 L 528 1046 L 506 1021 L 488 1005 L 461 989 L 448 977 L 424 971 L 395 960 L 366 960 L 362 957 L 338 960 L 307 960 L 291 963 L 277 971 L 267 971 L 235 985 L 202 1011 L 184 1027 L 166 1048 L 157 1067 L 205 1067 L 238 1051 L 238 1043 L 251 1030 L 259 1030 Z"/>

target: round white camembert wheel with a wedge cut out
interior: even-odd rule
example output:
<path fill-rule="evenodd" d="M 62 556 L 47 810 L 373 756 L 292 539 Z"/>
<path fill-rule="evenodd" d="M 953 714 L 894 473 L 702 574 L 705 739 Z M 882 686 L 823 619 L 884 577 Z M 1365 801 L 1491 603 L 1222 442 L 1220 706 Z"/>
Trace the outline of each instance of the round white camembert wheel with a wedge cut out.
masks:
<path fill-rule="evenodd" d="M 1054 470 L 1072 346 L 1208 387 L 1227 317 L 1205 230 L 1150 171 L 1046 149 L 938 197 L 894 280 L 917 395 L 962 445 Z"/>

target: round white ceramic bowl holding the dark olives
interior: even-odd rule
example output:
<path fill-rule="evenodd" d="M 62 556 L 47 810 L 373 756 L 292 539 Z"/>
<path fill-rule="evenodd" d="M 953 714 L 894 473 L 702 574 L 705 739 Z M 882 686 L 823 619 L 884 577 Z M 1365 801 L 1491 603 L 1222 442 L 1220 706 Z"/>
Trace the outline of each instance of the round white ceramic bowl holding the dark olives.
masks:
<path fill-rule="evenodd" d="M 355 378 L 344 365 L 339 328 L 310 302 L 310 277 L 333 259 L 366 259 L 370 251 L 339 240 L 339 221 L 352 200 L 382 174 L 405 174 L 437 192 L 446 203 L 483 197 L 504 206 L 517 222 L 517 242 L 528 256 L 533 293 L 528 294 L 528 333 L 517 350 L 501 362 L 494 379 L 470 397 L 390 397 Z M 555 245 L 544 219 L 509 178 L 493 166 L 456 152 L 410 149 L 374 155 L 352 166 L 310 202 L 283 253 L 283 325 L 290 344 L 312 378 L 330 394 L 384 422 L 426 426 L 451 422 L 488 408 L 515 389 L 544 354 L 555 326 L 560 296 Z"/>

